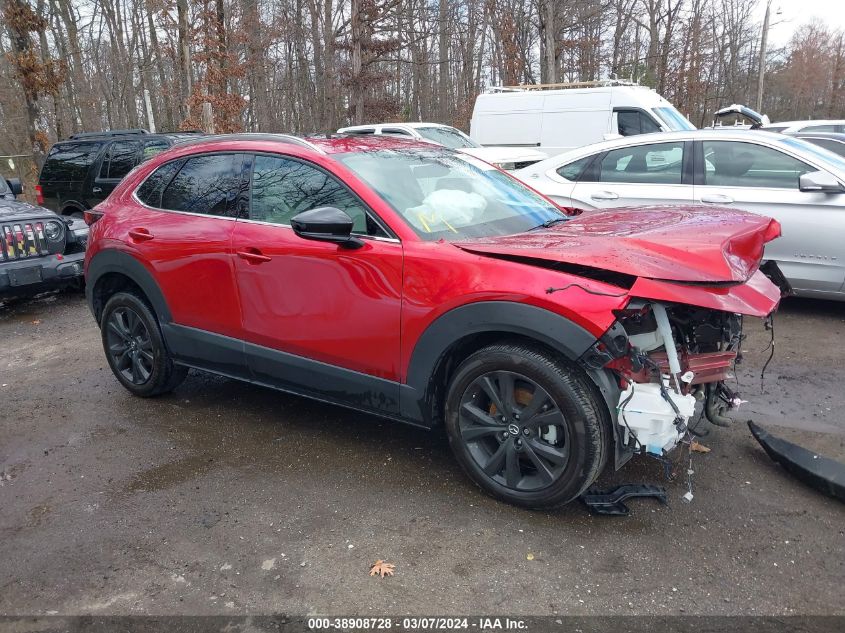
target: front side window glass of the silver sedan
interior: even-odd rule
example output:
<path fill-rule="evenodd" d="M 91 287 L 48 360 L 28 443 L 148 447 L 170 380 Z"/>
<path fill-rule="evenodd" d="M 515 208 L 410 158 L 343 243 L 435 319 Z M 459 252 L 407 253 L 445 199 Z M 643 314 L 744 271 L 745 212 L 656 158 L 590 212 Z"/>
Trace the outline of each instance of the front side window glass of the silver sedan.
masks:
<path fill-rule="evenodd" d="M 815 171 L 783 152 L 742 141 L 704 141 L 704 184 L 717 187 L 798 189 L 801 174 Z"/>

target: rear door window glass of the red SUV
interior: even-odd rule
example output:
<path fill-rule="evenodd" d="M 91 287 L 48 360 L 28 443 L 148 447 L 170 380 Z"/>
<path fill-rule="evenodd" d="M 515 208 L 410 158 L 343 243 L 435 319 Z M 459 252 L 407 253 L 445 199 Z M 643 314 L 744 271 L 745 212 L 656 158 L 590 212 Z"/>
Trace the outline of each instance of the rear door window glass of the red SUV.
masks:
<path fill-rule="evenodd" d="M 161 208 L 234 217 L 241 181 L 241 154 L 189 158 L 161 196 Z"/>

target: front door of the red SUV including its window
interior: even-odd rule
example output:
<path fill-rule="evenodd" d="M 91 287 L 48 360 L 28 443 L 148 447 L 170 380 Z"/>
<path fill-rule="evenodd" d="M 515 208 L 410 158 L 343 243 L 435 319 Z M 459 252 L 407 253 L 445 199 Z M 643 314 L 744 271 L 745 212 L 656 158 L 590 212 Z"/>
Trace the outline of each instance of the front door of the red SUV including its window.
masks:
<path fill-rule="evenodd" d="M 329 401 L 354 395 L 362 409 L 392 412 L 401 243 L 321 167 L 277 154 L 253 161 L 248 216 L 235 223 L 232 249 L 255 379 Z M 321 206 L 348 213 L 363 246 L 297 236 L 291 218 Z"/>

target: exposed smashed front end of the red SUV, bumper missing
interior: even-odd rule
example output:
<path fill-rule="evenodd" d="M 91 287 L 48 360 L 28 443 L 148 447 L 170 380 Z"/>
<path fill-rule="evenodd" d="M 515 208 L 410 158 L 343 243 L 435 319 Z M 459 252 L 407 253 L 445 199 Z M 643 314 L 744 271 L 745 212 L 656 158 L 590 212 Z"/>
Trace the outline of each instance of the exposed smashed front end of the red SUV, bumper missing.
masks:
<path fill-rule="evenodd" d="M 778 298 L 771 297 L 766 318 Z M 635 453 L 664 456 L 700 433 L 702 418 L 731 423 L 728 411 L 742 402 L 727 384 L 742 361 L 742 314 L 644 298 L 615 314 L 616 322 L 581 362 L 609 370 L 619 381 L 617 468 Z"/>

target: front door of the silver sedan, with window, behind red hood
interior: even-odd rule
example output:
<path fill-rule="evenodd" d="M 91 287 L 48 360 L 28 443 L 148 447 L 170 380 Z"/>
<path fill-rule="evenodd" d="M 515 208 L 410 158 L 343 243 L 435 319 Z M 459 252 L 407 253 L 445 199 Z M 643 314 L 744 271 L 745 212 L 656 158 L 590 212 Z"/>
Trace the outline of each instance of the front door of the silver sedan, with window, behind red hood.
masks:
<path fill-rule="evenodd" d="M 816 168 L 749 141 L 698 141 L 696 202 L 775 218 L 783 235 L 766 246 L 790 283 L 840 292 L 845 283 L 845 194 L 806 192 L 801 174 Z M 703 167 L 703 168 L 702 168 Z"/>

